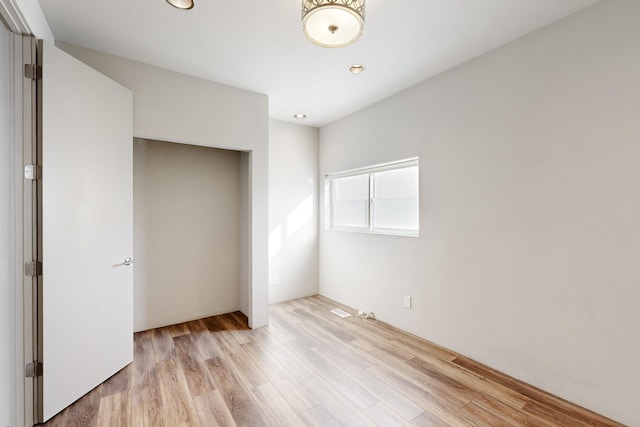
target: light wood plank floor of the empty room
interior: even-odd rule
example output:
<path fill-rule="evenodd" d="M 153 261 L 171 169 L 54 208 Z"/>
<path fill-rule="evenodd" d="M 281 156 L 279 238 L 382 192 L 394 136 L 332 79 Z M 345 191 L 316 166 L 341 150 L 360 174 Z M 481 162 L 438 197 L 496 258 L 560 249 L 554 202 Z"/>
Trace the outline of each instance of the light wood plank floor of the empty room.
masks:
<path fill-rule="evenodd" d="M 133 363 L 49 426 L 616 426 L 315 296 L 137 333 Z"/>

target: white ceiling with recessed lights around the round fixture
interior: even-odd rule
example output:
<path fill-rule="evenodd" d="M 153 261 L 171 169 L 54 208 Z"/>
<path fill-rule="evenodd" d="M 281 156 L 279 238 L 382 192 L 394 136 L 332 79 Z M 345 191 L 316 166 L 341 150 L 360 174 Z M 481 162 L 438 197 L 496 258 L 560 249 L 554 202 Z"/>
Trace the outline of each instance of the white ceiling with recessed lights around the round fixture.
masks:
<path fill-rule="evenodd" d="M 56 40 L 263 93 L 272 118 L 322 126 L 597 1 L 367 0 L 362 39 L 341 49 L 306 40 L 301 0 L 40 5 Z"/>

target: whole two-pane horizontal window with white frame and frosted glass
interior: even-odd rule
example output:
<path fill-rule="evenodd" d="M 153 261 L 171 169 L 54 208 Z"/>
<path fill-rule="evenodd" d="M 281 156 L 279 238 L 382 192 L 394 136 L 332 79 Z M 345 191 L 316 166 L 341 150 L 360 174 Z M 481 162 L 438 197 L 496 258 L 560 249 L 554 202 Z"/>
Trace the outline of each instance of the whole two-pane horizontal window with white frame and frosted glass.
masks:
<path fill-rule="evenodd" d="M 326 177 L 328 228 L 417 236 L 418 159 Z"/>

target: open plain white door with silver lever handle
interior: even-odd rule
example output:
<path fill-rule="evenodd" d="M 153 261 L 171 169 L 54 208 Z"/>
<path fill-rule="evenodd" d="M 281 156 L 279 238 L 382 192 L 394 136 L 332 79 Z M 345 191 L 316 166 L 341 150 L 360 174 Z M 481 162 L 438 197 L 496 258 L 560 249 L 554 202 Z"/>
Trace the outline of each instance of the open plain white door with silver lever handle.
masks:
<path fill-rule="evenodd" d="M 133 359 L 133 96 L 53 45 L 42 64 L 42 408 Z"/>

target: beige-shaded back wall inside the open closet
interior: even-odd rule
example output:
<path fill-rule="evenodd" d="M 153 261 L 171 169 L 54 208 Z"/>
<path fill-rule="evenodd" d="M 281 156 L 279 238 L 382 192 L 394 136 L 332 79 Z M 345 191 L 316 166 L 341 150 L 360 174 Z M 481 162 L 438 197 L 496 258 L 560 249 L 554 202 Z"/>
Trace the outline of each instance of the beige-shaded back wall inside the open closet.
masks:
<path fill-rule="evenodd" d="M 240 153 L 136 138 L 134 330 L 238 310 Z"/>

